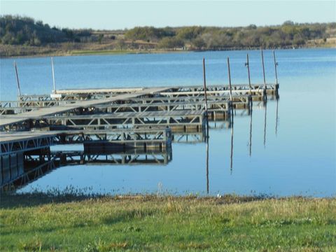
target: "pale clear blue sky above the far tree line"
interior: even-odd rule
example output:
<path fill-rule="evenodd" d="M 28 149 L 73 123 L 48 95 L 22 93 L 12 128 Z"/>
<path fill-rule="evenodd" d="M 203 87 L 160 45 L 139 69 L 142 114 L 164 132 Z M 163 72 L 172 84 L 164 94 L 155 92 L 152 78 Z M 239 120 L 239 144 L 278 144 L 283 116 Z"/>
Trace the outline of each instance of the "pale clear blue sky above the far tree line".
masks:
<path fill-rule="evenodd" d="M 1 15 L 25 15 L 50 26 L 130 29 L 189 25 L 237 27 L 336 22 L 336 1 L 15 1 Z"/>

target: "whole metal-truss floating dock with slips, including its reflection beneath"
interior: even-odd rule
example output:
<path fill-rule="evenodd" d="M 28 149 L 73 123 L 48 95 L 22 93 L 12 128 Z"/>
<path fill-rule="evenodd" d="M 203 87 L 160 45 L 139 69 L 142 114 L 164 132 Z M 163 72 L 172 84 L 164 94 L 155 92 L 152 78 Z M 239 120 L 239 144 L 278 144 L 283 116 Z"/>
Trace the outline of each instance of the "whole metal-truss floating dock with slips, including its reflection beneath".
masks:
<path fill-rule="evenodd" d="M 264 100 L 265 85 L 252 87 L 57 90 L 52 97 L 0 102 L 1 188 L 25 185 L 63 165 L 165 165 L 172 141 L 204 141 L 207 120 L 215 121 L 209 127 L 231 127 L 232 110 L 249 113 L 253 101 Z M 278 85 L 266 87 L 266 94 L 277 95 Z M 50 151 L 57 144 L 83 144 L 84 151 Z"/>

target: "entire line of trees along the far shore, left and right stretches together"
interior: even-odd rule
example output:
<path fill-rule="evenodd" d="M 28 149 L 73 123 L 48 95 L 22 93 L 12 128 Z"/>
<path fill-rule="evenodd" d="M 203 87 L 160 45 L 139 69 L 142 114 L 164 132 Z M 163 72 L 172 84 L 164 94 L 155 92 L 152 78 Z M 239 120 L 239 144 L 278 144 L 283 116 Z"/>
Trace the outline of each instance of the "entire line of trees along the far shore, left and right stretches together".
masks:
<path fill-rule="evenodd" d="M 107 32 L 107 34 L 111 34 Z M 336 36 L 336 23 L 304 23 L 286 21 L 282 25 L 257 27 L 134 27 L 105 36 L 104 31 L 50 27 L 32 18 L 0 16 L 1 44 L 42 46 L 50 43 L 104 43 L 116 40 L 123 48 L 168 50 L 228 50 L 230 48 L 301 47 L 307 41 Z"/>

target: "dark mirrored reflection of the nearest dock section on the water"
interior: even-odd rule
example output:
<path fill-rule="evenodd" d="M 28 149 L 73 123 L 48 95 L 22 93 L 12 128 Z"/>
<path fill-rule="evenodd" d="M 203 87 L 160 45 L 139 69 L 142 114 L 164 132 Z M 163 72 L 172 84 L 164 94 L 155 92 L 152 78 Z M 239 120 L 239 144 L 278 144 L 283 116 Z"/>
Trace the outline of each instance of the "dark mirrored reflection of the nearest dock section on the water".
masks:
<path fill-rule="evenodd" d="M 172 148 L 139 151 L 137 149 L 118 152 L 99 148 L 90 151 L 51 151 L 49 155 L 25 155 L 22 174 L 3 186 L 13 190 L 27 186 L 55 169 L 73 165 L 167 165 L 172 161 Z"/>

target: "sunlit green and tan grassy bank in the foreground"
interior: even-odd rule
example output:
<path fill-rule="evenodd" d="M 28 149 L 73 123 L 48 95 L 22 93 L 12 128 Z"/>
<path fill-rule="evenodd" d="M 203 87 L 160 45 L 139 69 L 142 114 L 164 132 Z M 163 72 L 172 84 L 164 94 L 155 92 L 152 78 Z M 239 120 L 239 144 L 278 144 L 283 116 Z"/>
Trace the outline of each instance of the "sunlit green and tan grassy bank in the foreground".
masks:
<path fill-rule="evenodd" d="M 336 199 L 1 195 L 1 251 L 336 251 Z"/>

